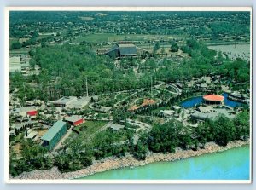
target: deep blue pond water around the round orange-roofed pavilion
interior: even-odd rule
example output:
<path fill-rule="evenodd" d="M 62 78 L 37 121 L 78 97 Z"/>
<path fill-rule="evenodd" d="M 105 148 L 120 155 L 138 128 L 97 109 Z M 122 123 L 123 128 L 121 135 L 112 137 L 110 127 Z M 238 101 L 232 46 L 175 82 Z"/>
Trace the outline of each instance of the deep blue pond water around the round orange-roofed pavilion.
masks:
<path fill-rule="evenodd" d="M 224 104 L 226 106 L 241 107 L 242 105 L 244 105 L 243 103 L 238 102 L 238 101 L 230 101 L 228 99 L 228 94 L 227 93 L 224 93 L 223 96 L 224 96 Z M 196 96 L 196 97 L 193 97 L 193 98 L 189 98 L 185 101 L 182 101 L 181 106 L 184 107 L 184 108 L 195 107 L 195 105 L 201 104 L 202 102 L 203 102 L 202 96 Z"/>

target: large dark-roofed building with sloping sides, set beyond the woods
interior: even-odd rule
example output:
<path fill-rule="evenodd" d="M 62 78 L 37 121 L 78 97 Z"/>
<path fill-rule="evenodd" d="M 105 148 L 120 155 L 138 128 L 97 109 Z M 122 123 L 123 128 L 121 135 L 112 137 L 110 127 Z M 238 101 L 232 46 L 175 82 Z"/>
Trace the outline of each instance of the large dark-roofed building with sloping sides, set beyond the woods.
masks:
<path fill-rule="evenodd" d="M 105 53 L 110 57 L 122 58 L 137 56 L 139 52 L 144 51 L 132 43 L 116 43 L 111 49 Z"/>

